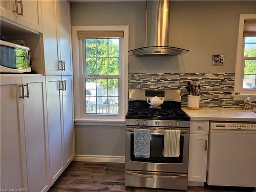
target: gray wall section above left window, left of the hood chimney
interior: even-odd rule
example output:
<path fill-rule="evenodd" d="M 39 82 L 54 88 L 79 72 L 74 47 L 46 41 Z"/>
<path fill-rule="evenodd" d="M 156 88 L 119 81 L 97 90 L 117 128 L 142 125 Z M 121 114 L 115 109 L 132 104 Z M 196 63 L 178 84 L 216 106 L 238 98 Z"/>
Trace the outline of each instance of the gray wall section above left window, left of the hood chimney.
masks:
<path fill-rule="evenodd" d="M 129 25 L 129 49 L 145 45 L 145 2 L 71 4 L 71 25 Z"/>

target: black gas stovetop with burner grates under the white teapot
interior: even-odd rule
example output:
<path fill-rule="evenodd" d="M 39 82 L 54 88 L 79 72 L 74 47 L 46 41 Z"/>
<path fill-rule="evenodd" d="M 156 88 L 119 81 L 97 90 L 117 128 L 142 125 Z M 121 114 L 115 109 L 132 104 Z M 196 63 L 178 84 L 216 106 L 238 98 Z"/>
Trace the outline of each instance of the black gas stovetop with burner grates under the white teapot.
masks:
<path fill-rule="evenodd" d="M 125 119 L 190 120 L 180 108 L 151 109 L 150 106 L 130 106 Z"/>

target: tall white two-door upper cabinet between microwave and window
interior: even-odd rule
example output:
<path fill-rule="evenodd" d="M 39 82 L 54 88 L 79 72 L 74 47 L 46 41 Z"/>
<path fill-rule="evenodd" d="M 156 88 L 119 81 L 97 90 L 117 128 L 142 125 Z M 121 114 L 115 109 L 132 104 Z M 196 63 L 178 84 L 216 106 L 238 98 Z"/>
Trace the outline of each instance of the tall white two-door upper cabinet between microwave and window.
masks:
<path fill-rule="evenodd" d="M 42 26 L 46 75 L 73 75 L 70 4 L 42 1 Z"/>

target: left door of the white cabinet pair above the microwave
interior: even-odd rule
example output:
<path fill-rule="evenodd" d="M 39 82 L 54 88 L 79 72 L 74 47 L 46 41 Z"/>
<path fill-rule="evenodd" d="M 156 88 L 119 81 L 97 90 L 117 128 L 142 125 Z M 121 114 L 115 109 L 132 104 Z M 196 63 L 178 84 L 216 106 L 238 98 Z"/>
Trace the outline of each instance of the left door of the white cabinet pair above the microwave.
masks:
<path fill-rule="evenodd" d="M 15 1 L 1 0 L 0 1 L 0 13 L 2 17 L 5 17 L 13 22 L 17 20 L 17 14 L 13 11 L 16 10 Z"/>

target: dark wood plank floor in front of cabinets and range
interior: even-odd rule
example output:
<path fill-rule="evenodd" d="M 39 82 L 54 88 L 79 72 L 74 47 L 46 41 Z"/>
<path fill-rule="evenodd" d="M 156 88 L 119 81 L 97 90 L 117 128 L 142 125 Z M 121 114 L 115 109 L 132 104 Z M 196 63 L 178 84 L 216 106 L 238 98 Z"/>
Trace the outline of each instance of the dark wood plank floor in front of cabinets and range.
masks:
<path fill-rule="evenodd" d="M 179 190 L 161 190 L 148 188 L 134 188 L 124 186 L 123 163 L 92 163 L 71 162 L 61 174 L 49 191 L 141 191 L 141 192 L 164 192 Z M 227 187 L 188 187 L 189 192 L 227 192 L 227 191 L 254 191 L 251 188 L 227 188 Z"/>

